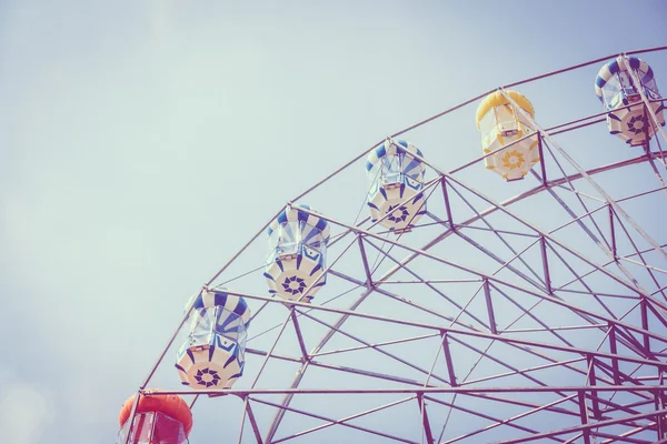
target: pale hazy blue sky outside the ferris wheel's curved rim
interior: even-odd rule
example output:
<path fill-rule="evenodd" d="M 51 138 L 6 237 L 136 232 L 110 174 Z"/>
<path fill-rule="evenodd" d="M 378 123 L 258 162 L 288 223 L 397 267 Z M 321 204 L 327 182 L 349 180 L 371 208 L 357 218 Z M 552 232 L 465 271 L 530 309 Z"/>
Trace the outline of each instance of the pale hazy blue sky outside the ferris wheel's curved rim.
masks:
<path fill-rule="evenodd" d="M 111 442 L 187 296 L 385 135 L 500 84 L 667 43 L 664 1 L 499 4 L 3 1 L 0 441 Z M 647 61 L 666 90 L 665 53 Z M 549 83 L 565 99 L 537 120 L 597 112 L 596 70 Z M 420 145 L 440 167 L 478 155 L 472 111 L 469 148 Z"/>

